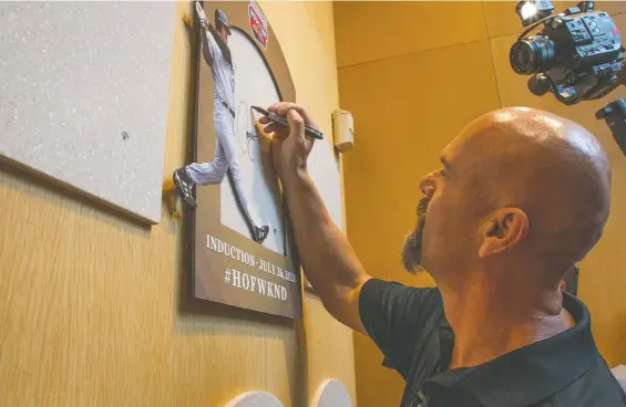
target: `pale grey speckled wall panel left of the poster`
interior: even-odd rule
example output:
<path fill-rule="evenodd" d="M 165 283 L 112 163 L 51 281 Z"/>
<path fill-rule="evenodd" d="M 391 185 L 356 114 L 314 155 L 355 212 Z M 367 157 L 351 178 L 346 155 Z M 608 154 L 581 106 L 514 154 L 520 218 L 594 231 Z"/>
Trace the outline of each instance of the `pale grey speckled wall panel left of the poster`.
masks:
<path fill-rule="evenodd" d="M 0 165 L 158 223 L 175 12 L 1 2 Z"/>

